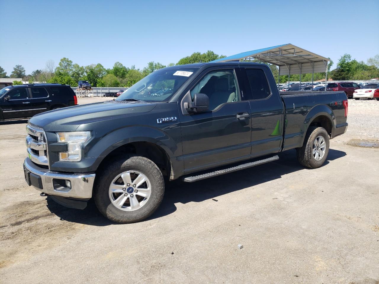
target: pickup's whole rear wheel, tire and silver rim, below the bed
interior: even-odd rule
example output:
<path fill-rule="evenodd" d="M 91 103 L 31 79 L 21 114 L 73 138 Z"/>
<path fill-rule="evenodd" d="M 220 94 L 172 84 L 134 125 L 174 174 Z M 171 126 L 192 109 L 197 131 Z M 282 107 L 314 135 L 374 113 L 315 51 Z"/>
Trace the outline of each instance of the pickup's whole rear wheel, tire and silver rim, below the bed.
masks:
<path fill-rule="evenodd" d="M 304 167 L 316 169 L 324 164 L 329 153 L 329 134 L 323 127 L 308 128 L 304 144 L 296 149 L 298 160 Z"/>

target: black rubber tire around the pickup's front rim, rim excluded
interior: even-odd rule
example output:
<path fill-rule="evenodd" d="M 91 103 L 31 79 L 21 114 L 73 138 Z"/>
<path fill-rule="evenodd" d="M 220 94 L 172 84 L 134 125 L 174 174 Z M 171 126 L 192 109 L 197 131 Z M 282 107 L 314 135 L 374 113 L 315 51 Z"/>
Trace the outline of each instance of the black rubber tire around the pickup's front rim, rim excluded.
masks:
<path fill-rule="evenodd" d="M 110 200 L 109 187 L 117 175 L 126 171 L 143 173 L 150 181 L 151 193 L 146 203 L 135 211 L 123 211 Z M 111 161 L 106 169 L 96 176 L 94 200 L 99 211 L 109 220 L 117 223 L 134 223 L 149 217 L 161 204 L 164 195 L 164 180 L 160 169 L 154 162 L 143 156 L 126 156 Z"/>

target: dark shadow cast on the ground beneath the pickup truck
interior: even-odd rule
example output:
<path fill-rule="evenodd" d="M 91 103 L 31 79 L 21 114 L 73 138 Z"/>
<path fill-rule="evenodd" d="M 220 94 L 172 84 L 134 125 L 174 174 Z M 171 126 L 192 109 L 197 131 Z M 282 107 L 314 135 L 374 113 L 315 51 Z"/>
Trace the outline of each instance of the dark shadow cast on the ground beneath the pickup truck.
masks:
<path fill-rule="evenodd" d="M 327 161 L 323 166 L 327 165 L 329 161 L 333 161 L 345 155 L 346 153 L 343 151 L 330 149 Z M 216 199 L 216 197 L 230 192 L 236 192 L 246 187 L 279 179 L 288 173 L 298 170 L 307 170 L 299 164 L 295 150 L 279 153 L 278 156 L 279 160 L 274 162 L 204 179 L 195 183 L 185 183 L 181 180 L 169 182 L 166 185 L 162 204 L 147 220 L 160 218 L 175 212 L 175 203 L 178 202 L 186 204 L 188 202 L 200 202 L 211 198 Z M 114 224 L 103 217 L 92 200 L 89 201 L 87 208 L 84 210 L 66 208 L 55 203 L 50 197 L 47 197 L 46 200 L 50 212 L 56 214 L 61 220 L 94 226 Z"/>

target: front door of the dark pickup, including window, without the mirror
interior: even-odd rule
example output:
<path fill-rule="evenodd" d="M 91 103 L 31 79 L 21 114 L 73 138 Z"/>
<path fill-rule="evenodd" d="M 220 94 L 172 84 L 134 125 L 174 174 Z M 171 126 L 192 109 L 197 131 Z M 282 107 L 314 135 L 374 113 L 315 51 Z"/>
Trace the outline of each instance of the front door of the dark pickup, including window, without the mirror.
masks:
<path fill-rule="evenodd" d="M 185 173 L 250 159 L 250 105 L 238 86 L 238 66 L 212 67 L 200 74 L 180 102 Z M 183 103 L 195 93 L 209 97 L 209 109 L 188 114 Z"/>

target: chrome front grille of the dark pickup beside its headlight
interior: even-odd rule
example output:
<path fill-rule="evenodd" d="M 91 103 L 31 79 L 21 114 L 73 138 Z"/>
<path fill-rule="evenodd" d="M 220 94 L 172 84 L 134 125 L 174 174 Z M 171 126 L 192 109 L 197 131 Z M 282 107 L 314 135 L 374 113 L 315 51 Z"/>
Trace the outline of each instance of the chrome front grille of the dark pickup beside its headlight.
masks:
<path fill-rule="evenodd" d="M 49 166 L 45 132 L 42 128 L 30 124 L 26 126 L 26 131 L 28 133 L 26 145 L 29 158 L 36 164 Z"/>

